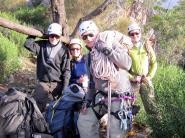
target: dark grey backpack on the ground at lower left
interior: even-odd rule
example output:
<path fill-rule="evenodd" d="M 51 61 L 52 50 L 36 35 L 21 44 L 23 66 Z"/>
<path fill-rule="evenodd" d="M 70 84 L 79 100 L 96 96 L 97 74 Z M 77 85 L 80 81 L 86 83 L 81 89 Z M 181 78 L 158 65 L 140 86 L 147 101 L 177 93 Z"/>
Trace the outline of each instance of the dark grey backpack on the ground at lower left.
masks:
<path fill-rule="evenodd" d="M 18 138 L 31 138 L 34 132 L 49 133 L 35 100 L 14 88 L 0 95 L 0 127 L 1 135 L 16 134 Z"/>

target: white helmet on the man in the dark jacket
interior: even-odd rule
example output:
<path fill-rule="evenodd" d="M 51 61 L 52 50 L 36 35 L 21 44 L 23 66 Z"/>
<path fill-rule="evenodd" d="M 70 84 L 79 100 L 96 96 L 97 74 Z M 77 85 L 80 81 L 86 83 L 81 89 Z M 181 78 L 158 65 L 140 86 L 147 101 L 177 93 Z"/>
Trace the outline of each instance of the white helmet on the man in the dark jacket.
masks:
<path fill-rule="evenodd" d="M 48 35 L 55 34 L 55 35 L 62 35 L 62 26 L 58 23 L 52 23 L 48 27 Z"/>

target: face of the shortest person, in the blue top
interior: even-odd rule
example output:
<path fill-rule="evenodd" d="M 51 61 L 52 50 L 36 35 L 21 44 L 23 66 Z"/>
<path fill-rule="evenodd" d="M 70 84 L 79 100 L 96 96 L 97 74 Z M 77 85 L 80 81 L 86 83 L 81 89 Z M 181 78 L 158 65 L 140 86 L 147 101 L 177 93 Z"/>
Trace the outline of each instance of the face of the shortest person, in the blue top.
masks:
<path fill-rule="evenodd" d="M 78 58 L 81 55 L 81 46 L 79 44 L 72 44 L 70 46 L 70 53 L 72 58 Z"/>

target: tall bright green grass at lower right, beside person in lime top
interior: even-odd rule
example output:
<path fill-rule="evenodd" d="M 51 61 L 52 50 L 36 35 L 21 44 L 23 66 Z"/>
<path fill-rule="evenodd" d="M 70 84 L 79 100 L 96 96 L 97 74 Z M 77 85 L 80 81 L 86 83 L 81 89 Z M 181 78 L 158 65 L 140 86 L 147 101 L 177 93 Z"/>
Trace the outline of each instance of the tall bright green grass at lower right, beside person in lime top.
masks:
<path fill-rule="evenodd" d="M 160 64 L 154 84 L 163 115 L 156 137 L 185 137 L 185 72 L 174 65 Z"/>

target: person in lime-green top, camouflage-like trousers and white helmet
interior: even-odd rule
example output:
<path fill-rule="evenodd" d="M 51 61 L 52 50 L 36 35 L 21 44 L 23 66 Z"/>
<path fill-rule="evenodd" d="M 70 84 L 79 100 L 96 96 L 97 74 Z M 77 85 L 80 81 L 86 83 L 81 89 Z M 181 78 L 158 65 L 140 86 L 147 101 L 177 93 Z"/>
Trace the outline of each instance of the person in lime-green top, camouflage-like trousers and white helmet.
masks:
<path fill-rule="evenodd" d="M 129 50 L 132 58 L 129 78 L 133 90 L 136 95 L 137 92 L 140 93 L 146 113 L 156 121 L 160 120 L 161 116 L 157 109 L 152 84 L 152 78 L 157 70 L 157 60 L 152 43 L 150 43 L 150 38 L 147 38 L 145 42 L 142 40 L 141 28 L 137 23 L 131 23 L 128 26 L 128 35 L 133 43 L 133 47 Z"/>

